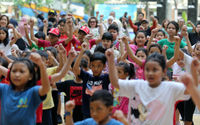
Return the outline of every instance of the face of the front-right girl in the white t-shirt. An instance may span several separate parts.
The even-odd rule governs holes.
[[[165,76],[162,67],[156,61],[148,61],[145,64],[144,73],[147,81],[149,82],[149,86],[151,87],[159,86],[162,81],[162,77]]]

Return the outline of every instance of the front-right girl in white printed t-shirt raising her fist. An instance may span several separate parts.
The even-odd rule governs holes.
[[[113,50],[106,52],[109,77],[114,87],[119,88],[120,96],[135,97],[138,110],[133,112],[133,121],[138,124],[172,125],[174,104],[184,100],[187,93],[183,84],[162,81],[166,73],[165,57],[158,53],[148,56],[145,63],[144,80],[118,80]],[[136,111],[136,110],[135,110]]]

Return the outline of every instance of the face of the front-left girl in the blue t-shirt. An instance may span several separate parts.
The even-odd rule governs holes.
[[[25,84],[32,79],[27,65],[24,63],[15,63],[10,70],[10,80],[17,88],[23,89]]]

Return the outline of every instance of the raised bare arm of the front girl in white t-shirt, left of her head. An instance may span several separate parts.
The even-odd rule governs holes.
[[[106,57],[107,57],[107,60],[108,60],[110,82],[115,88],[119,89],[117,69],[116,69],[115,60],[114,60],[115,59],[114,50],[108,49],[106,51]]]

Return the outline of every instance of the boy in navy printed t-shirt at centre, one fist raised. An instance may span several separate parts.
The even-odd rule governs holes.
[[[84,118],[90,117],[89,99],[96,90],[106,89],[110,83],[108,74],[102,74],[106,64],[106,57],[103,53],[96,52],[90,58],[90,68],[93,75],[79,68],[81,58],[86,50],[87,43],[82,44],[80,54],[74,64],[73,72],[83,80],[83,115]]]

